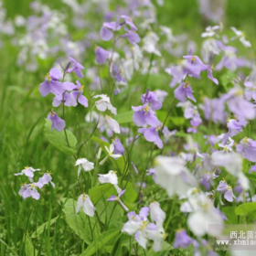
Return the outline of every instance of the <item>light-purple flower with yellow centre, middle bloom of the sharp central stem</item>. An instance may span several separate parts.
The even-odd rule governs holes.
[[[159,123],[155,113],[151,110],[148,104],[144,104],[143,106],[133,107],[133,122],[137,126],[144,126],[144,124],[149,125],[157,125]]]

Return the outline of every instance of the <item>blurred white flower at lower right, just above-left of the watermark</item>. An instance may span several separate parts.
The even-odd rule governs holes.
[[[223,229],[223,219],[219,210],[213,207],[213,203],[203,193],[197,195],[197,210],[189,215],[187,224],[197,236],[209,234],[218,237]],[[216,226],[209,227],[209,224]]]

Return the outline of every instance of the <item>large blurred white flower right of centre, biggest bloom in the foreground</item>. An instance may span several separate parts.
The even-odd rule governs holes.
[[[155,162],[156,183],[166,189],[169,197],[186,195],[190,187],[197,186],[197,179],[188,171],[182,158],[157,156]]]

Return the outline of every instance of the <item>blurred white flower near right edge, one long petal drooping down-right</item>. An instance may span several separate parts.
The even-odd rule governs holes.
[[[240,186],[248,190],[249,179],[242,172],[242,156],[239,153],[231,152],[225,153],[216,151],[211,155],[212,164],[215,166],[223,166],[230,175],[236,176],[240,179]]]

